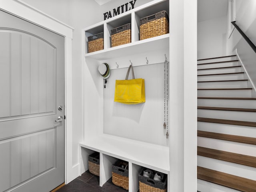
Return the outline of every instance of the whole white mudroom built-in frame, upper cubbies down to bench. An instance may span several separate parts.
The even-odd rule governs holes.
[[[83,52],[85,65],[88,65],[85,70],[91,70],[88,74],[92,75],[91,73],[96,73],[97,64],[102,62],[107,62],[110,69],[115,69],[116,62],[120,63],[121,60],[129,61],[131,57],[133,57],[133,66],[146,65],[146,62],[142,62],[142,58],[145,60],[145,57],[148,58],[150,64],[163,63],[165,56],[169,58],[169,34],[139,40],[140,18],[162,10],[166,10],[169,13],[169,0],[153,0],[123,14],[85,28],[83,30]],[[131,43],[111,47],[110,30],[126,23],[131,23]],[[104,33],[104,49],[88,53],[88,36],[100,32]],[[94,65],[95,68],[93,68]],[[119,68],[125,67],[128,67],[128,65],[119,66]],[[85,81],[86,78],[88,77],[85,77]],[[90,83],[94,83],[96,86],[100,84],[99,82],[100,80],[96,78],[90,80]],[[99,106],[97,108],[103,109],[103,90],[96,89],[96,93],[99,94]],[[88,114],[88,112],[85,112],[85,114]],[[80,170],[81,173],[88,170],[88,156],[94,151],[97,151],[100,152],[100,186],[111,178],[112,164],[116,161],[116,158],[129,162],[129,192],[138,191],[138,174],[143,167],[162,172],[169,176],[170,150],[168,142],[164,146],[104,134],[104,118],[102,116],[104,116],[103,112],[99,111],[99,122],[94,127],[85,126],[84,128],[85,140],[80,142],[80,160],[81,165],[83,165]],[[96,120],[94,114],[91,114],[91,117]]]

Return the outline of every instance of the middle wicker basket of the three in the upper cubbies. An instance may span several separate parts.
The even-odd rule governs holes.
[[[111,30],[112,47],[131,42],[131,24],[125,24]]]

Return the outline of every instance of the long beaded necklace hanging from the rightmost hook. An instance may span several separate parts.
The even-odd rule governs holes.
[[[166,129],[166,138],[168,139],[168,61],[165,57],[164,62],[164,129]]]

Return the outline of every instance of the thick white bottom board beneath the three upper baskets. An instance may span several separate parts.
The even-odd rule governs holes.
[[[128,54],[138,54],[138,50],[140,53],[151,52],[154,51],[152,48],[158,50],[169,49],[169,34],[107,48],[106,50],[104,49],[92,53],[87,53],[85,56],[97,60],[107,60],[114,57],[127,56]]]

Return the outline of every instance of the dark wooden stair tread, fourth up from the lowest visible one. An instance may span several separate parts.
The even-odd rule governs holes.
[[[199,121],[199,122],[210,122],[210,123],[220,123],[220,124],[256,127],[256,122],[248,122],[248,121],[213,119],[213,118],[203,118],[203,117],[198,117],[197,121]]]

